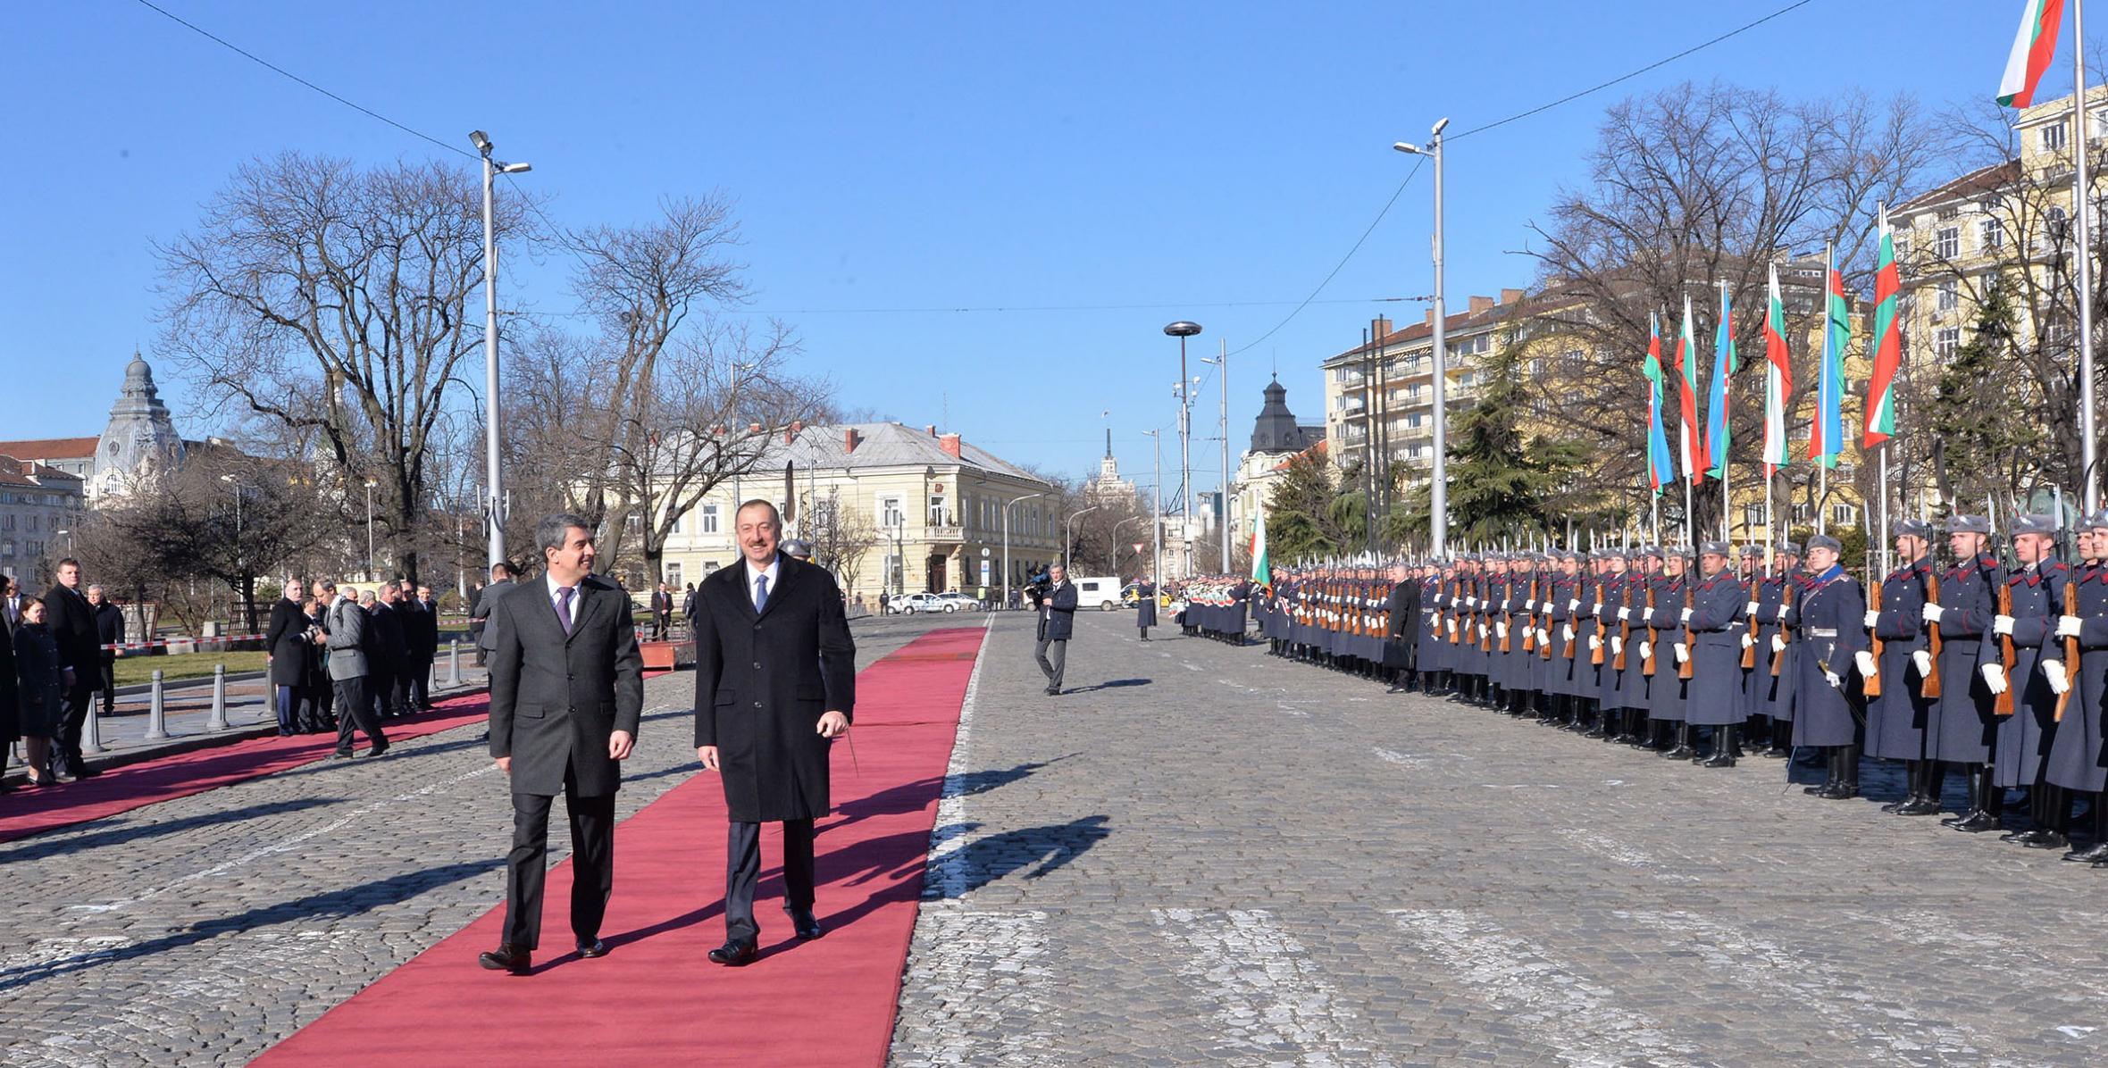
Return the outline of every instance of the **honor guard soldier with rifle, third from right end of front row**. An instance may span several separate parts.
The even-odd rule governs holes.
[[[1939,657],[1933,661],[1933,670],[1939,672],[1939,701],[1933,704],[1935,723],[1927,729],[1925,756],[1939,760],[1941,771],[1954,767],[1967,777],[1967,809],[1941,819],[1967,832],[1996,828],[2005,809],[2005,792],[1992,788],[1990,779],[1992,739],[1998,737],[1998,718],[1992,714],[1996,697],[1977,670],[1984,634],[1998,615],[1994,590],[2005,586],[1998,560],[1984,552],[1988,543],[1988,516],[1952,516],[1948,550],[1954,552],[1954,567],[1939,575],[1939,598],[1925,605],[1925,621],[1939,640]],[[1931,794],[1939,796],[1939,782],[1933,782]]]

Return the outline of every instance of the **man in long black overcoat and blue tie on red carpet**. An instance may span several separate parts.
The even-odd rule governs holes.
[[[761,824],[784,826],[784,912],[797,937],[820,937],[814,916],[812,822],[826,815],[826,756],[856,712],[856,642],[841,588],[826,569],[778,552],[782,518],[769,501],[734,516],[738,567],[702,579],[696,617],[696,756],[725,779],[725,944],[719,965],[759,952],[755,883]]]

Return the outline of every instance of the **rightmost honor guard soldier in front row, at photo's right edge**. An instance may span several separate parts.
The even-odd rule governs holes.
[[[2102,794],[2108,786],[2108,752],[2102,746],[2102,704],[2108,701],[2108,512],[2081,520],[2078,556],[2083,562],[2072,573],[2070,611],[2057,607],[2057,628],[2051,634],[2053,642],[2064,645],[2066,659],[2072,647],[2078,649],[2078,668],[2068,678],[2070,693],[2064,697],[2064,716],[2049,744],[2049,769],[2043,777],[2089,798],[2093,845],[2072,849],[2064,859],[2108,868],[2108,794]]]

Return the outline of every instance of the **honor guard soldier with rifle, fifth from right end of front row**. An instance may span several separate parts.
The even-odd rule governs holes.
[[[1794,746],[1828,752],[1830,773],[1807,792],[1826,800],[1859,796],[1859,723],[1847,683],[1868,649],[1866,594],[1838,565],[1842,546],[1830,535],[1809,539],[1809,581],[1794,605]]]

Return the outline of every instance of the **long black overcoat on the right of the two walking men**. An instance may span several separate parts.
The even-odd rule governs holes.
[[[826,569],[778,556],[757,615],[746,562],[713,571],[698,592],[696,746],[717,746],[725,813],[736,824],[828,813],[828,746],[820,716],[856,716],[856,642]]]

